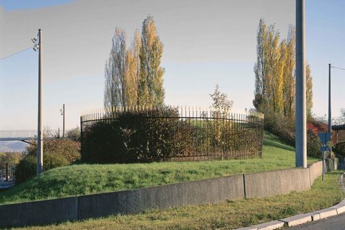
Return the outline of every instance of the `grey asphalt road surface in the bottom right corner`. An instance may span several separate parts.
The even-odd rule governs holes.
[[[308,222],[305,225],[288,228],[289,230],[345,230],[345,214],[327,219]]]

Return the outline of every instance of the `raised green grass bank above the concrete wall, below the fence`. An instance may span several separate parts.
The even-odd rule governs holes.
[[[264,133],[262,159],[151,164],[80,164],[55,168],[0,193],[0,204],[111,192],[168,183],[292,168],[294,148]],[[309,159],[309,163],[317,159]]]

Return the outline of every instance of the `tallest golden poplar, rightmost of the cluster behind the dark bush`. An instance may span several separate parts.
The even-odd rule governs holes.
[[[164,68],[160,66],[163,43],[157,36],[152,16],[142,23],[138,101],[140,105],[163,105]]]

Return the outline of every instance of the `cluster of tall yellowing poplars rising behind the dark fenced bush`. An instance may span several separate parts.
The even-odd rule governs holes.
[[[136,30],[129,49],[125,31],[116,27],[110,57],[105,62],[106,112],[114,113],[118,106],[164,104],[162,54],[163,43],[152,16],[142,23],[141,36]]]

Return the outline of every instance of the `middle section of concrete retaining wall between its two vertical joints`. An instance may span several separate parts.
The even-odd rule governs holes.
[[[243,175],[79,196],[80,219],[244,198]]]

